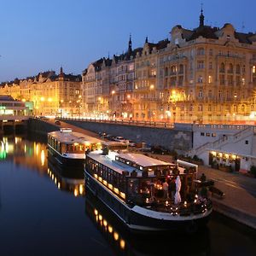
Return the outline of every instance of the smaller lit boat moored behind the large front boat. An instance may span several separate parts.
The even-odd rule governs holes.
[[[70,128],[48,133],[49,154],[65,166],[84,166],[86,150],[102,148],[102,142],[95,138],[74,132]]]

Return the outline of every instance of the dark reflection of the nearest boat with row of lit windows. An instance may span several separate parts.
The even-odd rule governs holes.
[[[85,212],[119,255],[210,255],[208,229],[193,236],[176,232],[157,235],[131,233],[87,190]]]

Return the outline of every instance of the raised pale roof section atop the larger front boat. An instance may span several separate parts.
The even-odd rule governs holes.
[[[173,166],[172,163],[154,159],[154,158],[148,157],[147,155],[144,155],[144,154],[128,153],[128,154],[119,154],[118,156],[122,159],[129,160],[131,162],[136,163],[138,166],[143,166],[143,167]]]

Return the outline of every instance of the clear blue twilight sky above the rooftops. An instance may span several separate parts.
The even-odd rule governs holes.
[[[205,23],[256,32],[255,0],[204,0]],[[91,61],[157,42],[177,24],[198,26],[201,0],[0,0],[0,82]]]

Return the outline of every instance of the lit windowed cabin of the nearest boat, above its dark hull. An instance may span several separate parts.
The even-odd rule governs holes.
[[[150,201],[174,201],[175,181],[181,180],[180,194],[186,201],[195,179],[195,171],[143,154],[99,151],[85,158],[85,169],[128,204],[146,206]]]

